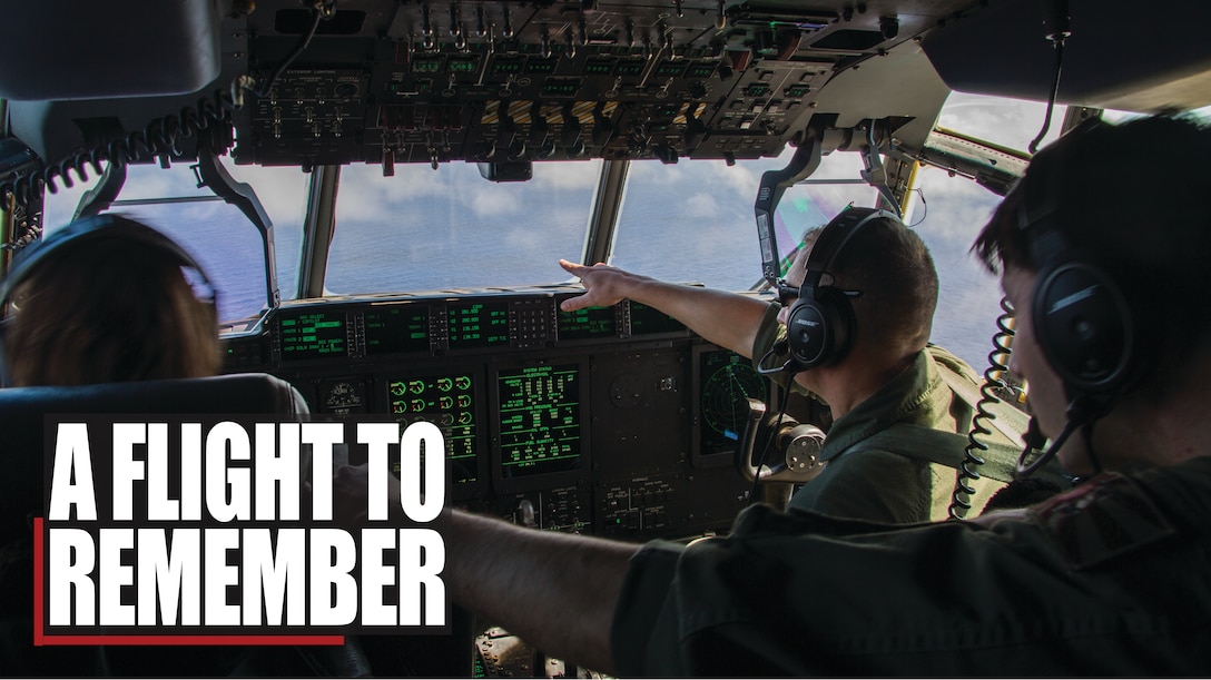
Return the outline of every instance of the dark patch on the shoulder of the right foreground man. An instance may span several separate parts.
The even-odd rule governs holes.
[[[1131,478],[1106,474],[1035,507],[1033,513],[1068,557],[1090,569],[1176,534]]]

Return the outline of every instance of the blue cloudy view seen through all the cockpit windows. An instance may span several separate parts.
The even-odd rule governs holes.
[[[1025,149],[1043,117],[1043,104],[954,94],[939,123]],[[1060,120],[1062,110],[1056,126]],[[761,173],[785,166],[790,152],[731,167],[722,161],[632,163],[612,264],[668,281],[748,289],[761,278],[752,211]],[[813,179],[856,180],[860,168],[856,154],[837,152]],[[309,177],[295,168],[229,169],[253,184],[274,220],[279,284],[289,298]],[[568,281],[557,261],[581,257],[598,173],[596,161],[535,163],[532,181],[494,184],[474,163],[443,163],[437,171],[397,166],[392,178],[378,166],[346,166],[326,288],[383,293]],[[46,224],[65,223],[85,186],[52,196]],[[930,247],[941,280],[934,340],[980,369],[992,347],[1000,292],[968,249],[999,198],[937,169],[920,172],[917,189],[908,223]],[[185,166],[167,172],[143,166],[131,168],[121,198],[207,194]],[[780,246],[793,247],[804,229],[826,223],[849,202],[873,201],[873,190],[861,181],[793,186],[781,203]],[[117,209],[185,242],[219,282],[224,318],[254,313],[264,304],[260,240],[234,208],[212,201]]]

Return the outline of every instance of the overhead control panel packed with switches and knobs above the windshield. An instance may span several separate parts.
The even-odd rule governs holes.
[[[390,173],[396,162],[776,155],[832,76],[963,4],[911,16],[794,5],[337,4],[292,59],[310,12],[259,2],[246,24],[260,91],[236,116],[235,159]]]

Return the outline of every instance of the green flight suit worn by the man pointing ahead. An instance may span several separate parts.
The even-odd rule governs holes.
[[[753,342],[754,363],[786,338],[786,327],[777,322],[779,310],[771,304],[762,319]],[[767,365],[785,361],[779,357]],[[820,451],[827,466],[791,496],[788,507],[890,524],[928,521],[934,485],[953,488],[953,473],[940,478],[923,459],[863,442],[894,425],[966,434],[972,409],[951,391],[941,370],[977,385],[971,367],[936,345],[928,346],[911,367],[832,423]],[[775,375],[775,380],[785,386],[786,374]]]

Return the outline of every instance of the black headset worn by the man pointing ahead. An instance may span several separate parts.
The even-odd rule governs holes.
[[[808,255],[803,283],[796,289],[779,280],[779,294],[797,295],[786,317],[786,341],[791,361],[786,368],[804,370],[839,362],[849,351],[854,339],[854,307],[849,299],[861,295],[861,290],[843,290],[833,284],[821,284],[828,267],[863,226],[890,219],[902,225],[900,218],[888,211],[876,208],[848,208],[834,217]]]

